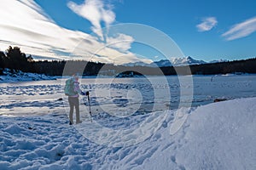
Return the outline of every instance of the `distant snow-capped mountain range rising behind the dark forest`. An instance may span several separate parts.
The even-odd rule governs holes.
[[[135,63],[126,63],[125,66],[149,66],[149,67],[164,67],[164,66],[183,66],[183,65],[202,65],[207,63],[219,63],[219,62],[227,62],[228,60],[220,59],[220,60],[212,60],[210,62],[206,62],[204,60],[193,59],[192,57],[183,57],[183,58],[171,58],[171,59],[161,59],[159,61],[154,61],[150,64],[144,63],[142,61]]]

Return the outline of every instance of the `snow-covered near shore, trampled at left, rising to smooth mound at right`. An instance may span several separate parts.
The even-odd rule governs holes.
[[[147,120],[163,122],[137,144],[101,145],[85,139],[79,127],[93,128],[87,116],[69,126],[67,115],[1,116],[1,169],[256,169],[256,98],[235,99],[188,111],[129,116],[95,116],[94,122],[113,129]],[[40,108],[38,108],[40,112]],[[153,117],[153,118],[150,118]],[[185,119],[184,119],[185,117]],[[179,122],[184,122],[179,129]],[[137,126],[139,129],[140,126]],[[178,130],[176,132],[176,130]],[[137,139],[141,133],[133,133]],[[93,135],[93,134],[92,134]],[[111,135],[102,132],[104,136]],[[112,138],[112,144],[119,143]],[[126,138],[129,140],[129,138]],[[126,142],[126,141],[125,141]]]

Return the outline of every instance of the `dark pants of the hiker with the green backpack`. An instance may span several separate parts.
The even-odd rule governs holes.
[[[80,122],[80,111],[79,111],[79,98],[68,97],[68,103],[70,106],[69,120],[73,124],[73,108],[76,109],[76,123]]]

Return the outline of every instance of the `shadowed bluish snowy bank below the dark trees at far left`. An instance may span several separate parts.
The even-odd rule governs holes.
[[[48,77],[44,74],[28,73],[22,71],[10,71],[5,69],[3,76],[0,76],[0,82],[25,82],[25,81],[38,81],[38,80],[55,80],[55,77]]]

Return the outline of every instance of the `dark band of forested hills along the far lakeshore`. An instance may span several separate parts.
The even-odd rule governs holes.
[[[65,65],[72,68],[70,71],[64,71]],[[119,73],[122,75],[213,75],[227,73],[256,73],[256,58],[242,59],[221,63],[202,64],[202,65],[187,65],[187,66],[166,66],[154,68],[149,66],[125,66],[103,64],[84,60],[38,60],[35,61],[32,55],[20,51],[18,47],[9,47],[6,52],[0,52],[0,74],[3,74],[3,69],[20,70],[25,72],[34,72],[49,76],[70,76],[74,72],[81,72],[83,69],[84,76],[96,76],[98,74],[105,76],[116,76]],[[67,67],[66,67],[67,68]]]

